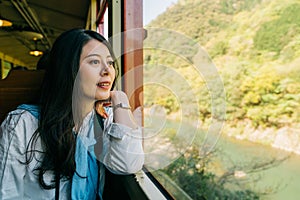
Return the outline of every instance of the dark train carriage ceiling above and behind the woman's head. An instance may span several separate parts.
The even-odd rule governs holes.
[[[0,27],[0,52],[27,66],[35,66],[39,57],[30,50],[47,51],[65,30],[86,28],[89,0],[0,0],[0,19],[12,26]]]

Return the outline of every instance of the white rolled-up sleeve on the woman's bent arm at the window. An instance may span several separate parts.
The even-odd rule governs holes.
[[[141,170],[144,164],[142,129],[111,123],[105,133],[109,142],[104,165],[115,174],[132,174]]]

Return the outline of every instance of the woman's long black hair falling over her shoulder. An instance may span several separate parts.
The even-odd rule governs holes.
[[[76,170],[76,138],[72,132],[74,127],[72,92],[80,67],[82,48],[91,39],[106,45],[115,60],[114,53],[105,38],[97,32],[84,29],[72,29],[62,33],[54,42],[47,57],[47,70],[39,101],[39,126],[27,146],[26,154],[28,164],[35,158],[34,154],[37,152],[35,145],[40,138],[42,158],[35,170],[38,172],[39,184],[45,189],[55,187],[55,176],[52,183],[45,182],[46,172],[59,174],[60,178],[71,179]]]

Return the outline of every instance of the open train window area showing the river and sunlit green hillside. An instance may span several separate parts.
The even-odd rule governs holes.
[[[297,198],[300,4],[143,4],[145,167],[153,183],[175,199]]]

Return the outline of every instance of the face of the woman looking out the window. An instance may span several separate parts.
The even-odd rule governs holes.
[[[83,95],[91,100],[105,100],[115,80],[116,71],[108,48],[92,39],[82,49],[79,80]]]

